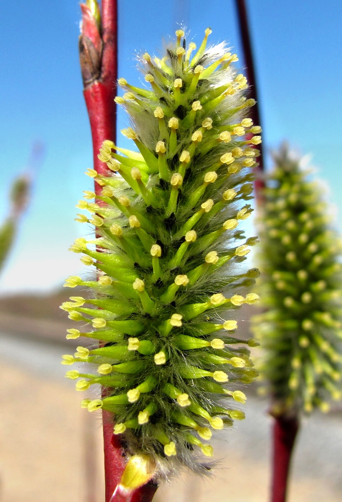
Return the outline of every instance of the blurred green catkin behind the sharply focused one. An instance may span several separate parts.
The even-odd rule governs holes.
[[[254,318],[274,415],[329,410],[341,394],[341,244],[318,182],[284,145],[260,214],[265,312]]]

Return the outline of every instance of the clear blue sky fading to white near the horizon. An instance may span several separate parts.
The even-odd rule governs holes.
[[[276,148],[286,139],[310,154],[341,215],[342,5],[317,0],[247,5],[264,147]],[[92,154],[78,63],[79,18],[74,0],[18,0],[0,7],[0,219],[11,180],[25,169],[33,142],[45,145],[31,204],[0,277],[0,294],[52,290],[68,275],[82,273],[78,257],[67,250],[87,231],[74,221],[74,206],[82,190],[91,189],[83,174]],[[173,37],[181,24],[197,43],[210,26],[210,42],[234,46],[243,68],[234,0],[119,0],[119,77],[139,83],[135,54],[157,54],[162,39]],[[125,125],[119,114],[119,130]],[[342,231],[340,221],[339,216]]]

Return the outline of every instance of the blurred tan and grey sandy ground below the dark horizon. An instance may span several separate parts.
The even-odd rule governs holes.
[[[0,343],[0,502],[103,502],[99,418],[80,409],[84,394],[63,379],[68,367],[56,362],[63,348],[51,349],[49,359],[42,346],[37,364],[30,345],[15,346]],[[271,422],[261,405],[249,397],[247,419],[213,442],[223,459],[215,477],[184,475],[154,500],[267,502]],[[288,502],[342,500],[341,460],[340,413],[303,423]]]

